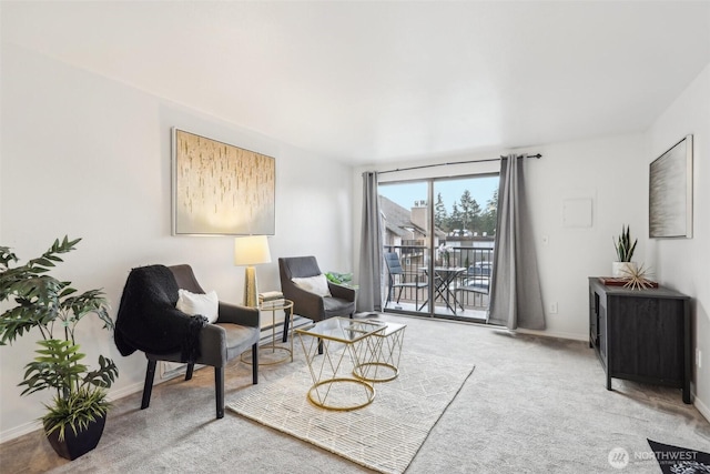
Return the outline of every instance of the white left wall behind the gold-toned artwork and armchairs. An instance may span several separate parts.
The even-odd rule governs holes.
[[[171,236],[171,127],[276,158],[273,262],[256,270],[276,290],[278,256],[315,254],[323,270],[349,271],[352,169],[23,49],[2,47],[0,242],[23,260],[55,238],[83,238],[58,275],[103,288],[115,315],[131,268],[190,263],[221,299],[243,300],[233,239]],[[274,111],[274,113],[277,113]],[[121,356],[101,324],[80,325],[89,363],[113,357],[112,397],[142,389],[145,359]],[[17,384],[38,334],[0,347],[0,442],[37,427],[42,395]]]

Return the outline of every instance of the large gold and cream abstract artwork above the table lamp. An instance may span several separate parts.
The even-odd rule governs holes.
[[[173,235],[274,235],[276,160],[172,129]]]

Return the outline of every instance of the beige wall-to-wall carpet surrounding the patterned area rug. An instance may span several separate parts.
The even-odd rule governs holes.
[[[648,438],[710,451],[710,423],[681,401],[679,390],[615,379],[613,391],[607,391],[601,364],[586,341],[422,317],[378,319],[407,325],[403,370],[412,353],[476,365],[406,474],[649,474],[660,468],[648,456]],[[295,349],[293,363],[260,367],[258,386],[252,385],[252,367],[233,361],[226,367],[226,401],[292,374],[304,360],[298,344]],[[131,357],[140,362],[142,377],[145,357]],[[372,407],[381,405],[384,387]],[[305,392],[291,396],[303,400]],[[2,443],[0,473],[373,472],[232,412],[215,420],[214,371],[209,367],[195,371],[190,382],[179,377],[158,384],[150,409],[140,405],[140,392],[116,400],[99,446],[72,462],[57,456],[39,431]],[[619,447],[630,457],[623,470],[609,463]]]

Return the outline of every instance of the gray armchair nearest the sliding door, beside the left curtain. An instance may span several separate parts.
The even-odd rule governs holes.
[[[293,282],[293,278],[316,276],[323,273],[315,256],[288,256],[278,259],[281,292],[293,301],[293,312],[315,322],[332,316],[349,316],[355,313],[355,289],[328,281],[332,296],[318,296]],[[285,322],[288,324],[288,321]],[[284,331],[284,342],[287,333]]]

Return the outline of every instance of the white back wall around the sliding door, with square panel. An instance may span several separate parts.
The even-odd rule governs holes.
[[[516,153],[541,153],[526,161],[527,191],[545,304],[546,334],[567,339],[589,339],[588,276],[609,275],[615,260],[612,236],[629,224],[639,239],[635,260],[643,261],[646,251],[647,177],[643,171],[643,135],[619,135],[597,140],[548,144]],[[457,157],[445,162],[485,160],[497,153]],[[422,163],[397,163],[379,170]],[[497,171],[500,164],[473,163],[387,173],[381,182],[414,179],[424,174],[464,175]],[[365,168],[367,169],[367,168]],[[376,169],[376,167],[372,167]],[[640,170],[640,171],[639,171]],[[355,173],[355,183],[362,180]],[[588,228],[567,228],[562,223],[565,200],[590,199],[592,223]],[[359,226],[361,195],[355,193],[355,229]],[[547,244],[544,243],[547,238]],[[356,245],[359,245],[357,235]],[[558,313],[550,314],[552,302]]]

